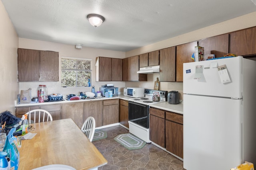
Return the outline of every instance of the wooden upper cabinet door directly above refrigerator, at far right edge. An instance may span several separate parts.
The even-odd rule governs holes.
[[[230,33],[229,53],[235,55],[256,54],[256,27]]]

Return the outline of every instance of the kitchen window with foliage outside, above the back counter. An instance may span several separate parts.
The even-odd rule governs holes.
[[[88,87],[92,76],[92,60],[61,58],[61,86]]]

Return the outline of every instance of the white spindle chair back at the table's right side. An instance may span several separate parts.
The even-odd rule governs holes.
[[[88,117],[84,124],[82,125],[81,131],[92,141],[94,131],[95,131],[95,119],[93,117]]]

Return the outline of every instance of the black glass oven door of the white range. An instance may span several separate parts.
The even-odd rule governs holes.
[[[149,106],[128,102],[128,119],[148,129],[149,127]]]

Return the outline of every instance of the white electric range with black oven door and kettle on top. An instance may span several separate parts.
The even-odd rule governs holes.
[[[160,101],[154,102],[152,97],[158,93]],[[128,100],[128,118],[129,132],[139,137],[147,143],[149,140],[149,106],[159,102],[167,101],[167,91],[162,90],[144,90],[145,97]]]

